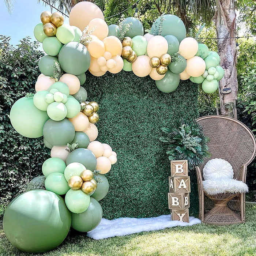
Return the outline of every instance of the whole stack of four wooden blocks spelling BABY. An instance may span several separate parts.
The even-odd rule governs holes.
[[[171,161],[168,204],[173,221],[189,222],[189,192],[188,161]]]

